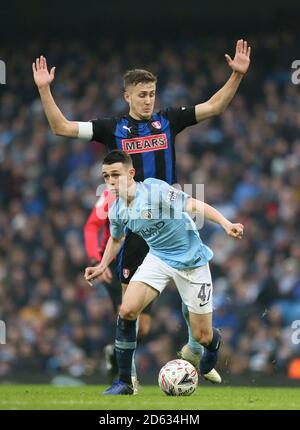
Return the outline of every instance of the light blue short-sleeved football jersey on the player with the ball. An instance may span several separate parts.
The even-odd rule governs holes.
[[[147,242],[150,254],[175,269],[204,266],[212,250],[204,245],[185,205],[188,194],[164,181],[148,178],[137,182],[129,207],[118,198],[109,210],[110,233],[118,239],[129,228]]]

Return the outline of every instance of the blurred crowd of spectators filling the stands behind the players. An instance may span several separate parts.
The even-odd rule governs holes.
[[[287,375],[300,357],[300,92],[291,82],[297,40],[249,40],[252,64],[230,107],[177,138],[178,182],[204,184],[205,200],[245,226],[234,241],[205,223],[214,251],[214,325],[223,333],[219,368],[228,374]],[[127,111],[122,75],[158,75],[157,110],[207,100],[230,75],[224,54],[235,41],[196,43],[101,40],[31,43],[4,50],[0,88],[0,378],[18,372],[105,374],[104,346],[115,315],[103,286],[83,279],[83,225],[96,202],[101,144],[54,136],[31,63],[56,66],[55,100],[68,119]],[[293,57],[294,54],[294,57]],[[139,345],[141,374],[157,372],[187,340],[180,299],[170,286],[155,302],[150,334]],[[297,324],[296,324],[297,325]],[[300,322],[299,322],[300,325]],[[100,375],[100,376],[99,376]],[[141,376],[143,381],[143,376]]]

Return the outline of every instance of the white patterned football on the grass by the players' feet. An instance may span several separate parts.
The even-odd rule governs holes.
[[[186,360],[172,360],[159,372],[158,384],[168,396],[190,396],[198,385],[198,373]]]

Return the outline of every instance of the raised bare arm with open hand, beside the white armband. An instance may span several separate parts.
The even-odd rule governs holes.
[[[38,87],[42,105],[53,133],[60,136],[78,137],[78,122],[68,121],[56,105],[50,84],[54,80],[55,67],[48,71],[46,58],[42,55],[32,63],[33,78]]]

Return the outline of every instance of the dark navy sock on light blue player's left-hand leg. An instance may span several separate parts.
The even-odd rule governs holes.
[[[136,349],[136,320],[125,320],[118,316],[115,350],[120,380],[131,385],[131,372]]]

